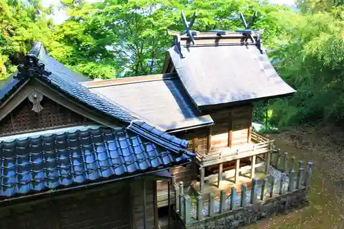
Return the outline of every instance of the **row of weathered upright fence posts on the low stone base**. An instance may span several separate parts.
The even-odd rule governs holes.
[[[286,161],[286,158],[284,160]],[[263,179],[252,179],[250,190],[247,184],[242,184],[239,192],[236,188],[232,187],[228,196],[226,196],[226,190],[220,190],[219,199],[215,198],[215,193],[198,193],[195,201],[192,201],[189,193],[184,193],[183,183],[175,184],[175,210],[186,225],[193,221],[200,221],[205,217],[214,217],[218,214],[237,210],[238,208],[246,208],[252,204],[262,204],[268,199],[273,199],[279,195],[286,195],[288,192],[310,186],[313,163],[308,162],[304,175],[303,172],[305,169],[303,168],[303,162],[299,161],[297,171],[292,166],[295,162],[294,157],[292,157],[291,162],[289,175],[283,172],[278,182],[276,177],[272,176],[264,177]],[[289,177],[288,184],[287,177]],[[276,188],[276,184],[278,184],[278,188]],[[238,198],[240,199],[239,205],[237,205]],[[227,200],[229,200],[229,205],[227,204]],[[206,209],[208,210],[208,214],[204,214],[206,212],[204,207],[206,206],[208,206],[208,209]],[[195,213],[191,214],[191,212]]]

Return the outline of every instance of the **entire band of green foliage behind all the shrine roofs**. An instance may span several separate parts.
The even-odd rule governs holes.
[[[270,101],[268,127],[344,119],[344,7],[342,1],[297,1],[302,13],[268,1],[249,0],[63,0],[69,19],[52,25],[52,8],[37,0],[0,1],[0,79],[15,71],[34,41],[42,41],[54,58],[89,78],[156,74],[164,64],[172,37],[182,32],[180,11],[192,17],[194,30],[242,28],[238,12],[257,11],[253,28],[279,74],[297,94]],[[255,111],[266,122],[266,105]],[[266,130],[268,131],[268,129]]]

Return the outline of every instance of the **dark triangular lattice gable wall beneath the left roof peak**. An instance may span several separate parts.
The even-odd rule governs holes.
[[[43,110],[36,113],[32,111],[32,102],[28,98],[23,100],[8,116],[0,120],[0,136],[92,122],[49,98],[43,97],[41,105]]]

